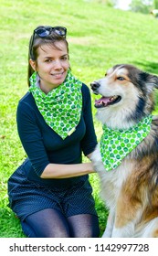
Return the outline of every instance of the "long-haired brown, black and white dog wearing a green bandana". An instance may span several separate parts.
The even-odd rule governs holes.
[[[158,116],[152,115],[158,77],[118,64],[90,87],[101,96],[95,107],[104,128],[91,155],[100,197],[109,209],[102,237],[158,237]],[[118,148],[111,153],[111,146]]]

